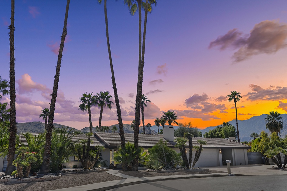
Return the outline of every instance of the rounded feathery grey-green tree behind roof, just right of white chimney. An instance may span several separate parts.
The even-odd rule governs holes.
[[[178,123],[178,128],[174,130],[174,136],[183,137],[184,133],[190,133],[195,137],[202,137],[202,133],[199,129],[192,126],[191,122]]]

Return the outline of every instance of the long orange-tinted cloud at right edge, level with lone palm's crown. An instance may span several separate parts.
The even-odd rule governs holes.
[[[275,87],[270,85],[268,88],[263,89],[258,85],[250,84],[249,87],[253,92],[248,92],[244,97],[247,100],[282,100],[287,99],[287,87]]]

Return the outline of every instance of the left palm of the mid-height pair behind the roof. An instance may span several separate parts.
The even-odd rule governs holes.
[[[82,102],[79,106],[79,109],[82,111],[87,111],[89,114],[89,122],[90,122],[90,132],[93,132],[93,126],[92,126],[92,117],[91,117],[91,107],[97,105],[97,96],[92,95],[92,93],[83,93],[82,97],[80,97],[80,102]]]

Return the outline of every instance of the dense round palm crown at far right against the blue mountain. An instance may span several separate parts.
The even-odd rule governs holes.
[[[281,130],[283,129],[283,119],[280,113],[278,112],[269,112],[265,119],[266,129],[272,132],[279,132],[281,134]]]

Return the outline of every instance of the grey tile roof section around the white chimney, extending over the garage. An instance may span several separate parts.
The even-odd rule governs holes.
[[[117,147],[121,144],[121,138],[119,133],[103,133],[97,132],[95,136],[100,138],[103,142],[107,144],[108,147]],[[175,137],[176,138],[176,137]],[[163,139],[163,135],[153,135],[153,134],[139,134],[138,135],[138,145],[144,148],[150,148],[154,146],[160,139]],[[207,142],[207,145],[203,145],[203,148],[239,148],[239,149],[250,149],[250,146],[244,145],[242,143],[238,143],[235,141],[231,141],[228,139],[217,139],[217,138],[204,138],[204,137],[193,137],[192,144],[193,146],[199,145],[197,140],[204,140]],[[125,133],[125,141],[126,142],[134,142],[134,134],[133,133]],[[169,141],[167,145],[169,147],[174,147],[176,142]],[[186,146],[188,147],[188,141],[186,142]]]

